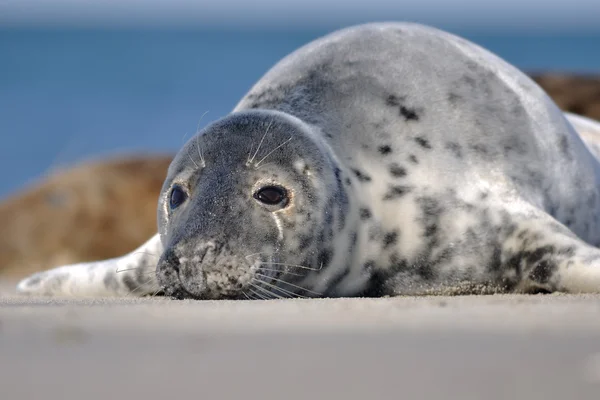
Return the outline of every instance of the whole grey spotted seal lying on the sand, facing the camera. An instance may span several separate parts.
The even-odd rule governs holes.
[[[18,289],[599,292],[598,137],[600,124],[565,116],[462,38],[412,23],[351,27],[284,58],[184,145],[147,244]]]

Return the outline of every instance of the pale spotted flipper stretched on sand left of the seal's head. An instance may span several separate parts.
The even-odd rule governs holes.
[[[65,265],[34,274],[17,285],[21,294],[70,297],[145,296],[160,289],[156,264],[162,253],[158,234],[122,257]]]

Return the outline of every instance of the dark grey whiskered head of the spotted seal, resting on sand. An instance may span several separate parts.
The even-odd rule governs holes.
[[[157,279],[178,298],[309,297],[332,261],[348,194],[314,127],[233,113],[177,154],[158,206]]]

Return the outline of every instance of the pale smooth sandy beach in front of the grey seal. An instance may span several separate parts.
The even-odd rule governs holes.
[[[3,399],[597,399],[600,296],[0,292]]]

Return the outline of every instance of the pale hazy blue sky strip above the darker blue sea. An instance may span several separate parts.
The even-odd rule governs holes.
[[[600,0],[0,0],[0,26],[341,26],[410,20],[446,28],[600,31]]]

